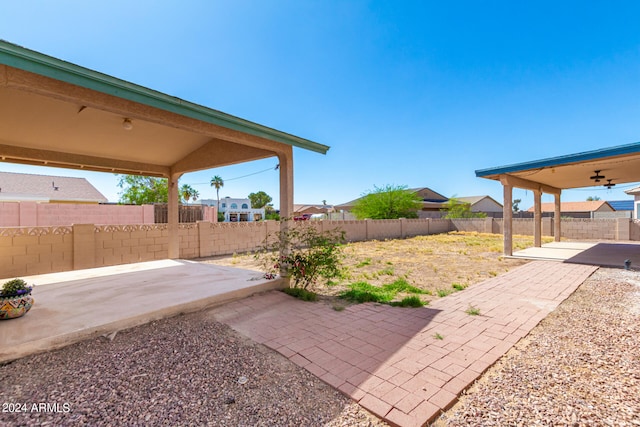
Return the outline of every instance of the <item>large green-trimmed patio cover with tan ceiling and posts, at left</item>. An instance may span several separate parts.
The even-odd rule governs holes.
[[[170,258],[182,174],[278,157],[288,217],[293,147],[329,149],[0,40],[0,161],[168,178]]]

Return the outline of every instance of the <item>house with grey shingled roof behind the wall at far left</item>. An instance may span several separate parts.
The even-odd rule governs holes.
[[[107,203],[85,178],[0,172],[0,202]]]

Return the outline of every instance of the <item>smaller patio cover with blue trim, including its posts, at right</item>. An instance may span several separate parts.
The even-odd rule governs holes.
[[[554,237],[560,241],[560,194],[563,189],[616,185],[640,181],[640,142],[601,150],[476,170],[480,178],[500,181],[504,189],[504,253],[512,255],[512,190],[534,194],[534,245],[542,234],[541,194],[555,195]]]

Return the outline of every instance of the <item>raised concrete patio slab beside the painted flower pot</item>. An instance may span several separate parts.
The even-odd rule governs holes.
[[[27,315],[0,322],[0,362],[282,287],[262,274],[183,260],[24,277]]]

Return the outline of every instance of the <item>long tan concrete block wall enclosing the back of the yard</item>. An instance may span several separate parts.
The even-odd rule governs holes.
[[[293,223],[293,226],[303,225]],[[502,233],[502,220],[398,219],[309,221],[319,231],[339,228],[350,242],[414,237],[449,231]],[[251,252],[280,229],[276,221],[180,224],[180,258],[194,259]],[[543,218],[543,235],[553,233],[553,219]],[[532,219],[514,219],[514,234],[533,235]],[[566,239],[640,240],[640,222],[628,218],[563,219]],[[166,224],[0,228],[0,278],[128,264],[168,256]]]

